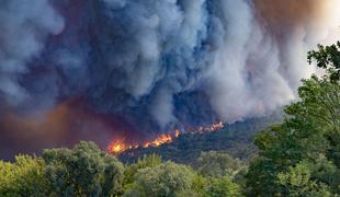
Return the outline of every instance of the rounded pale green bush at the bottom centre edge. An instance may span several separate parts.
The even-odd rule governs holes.
[[[185,165],[166,162],[155,167],[139,170],[134,184],[124,196],[174,197],[191,192],[194,173]]]

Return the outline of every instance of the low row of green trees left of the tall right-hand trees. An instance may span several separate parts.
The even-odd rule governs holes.
[[[123,165],[93,142],[0,162],[0,196],[240,196],[239,160],[202,153],[197,169],[145,155]]]

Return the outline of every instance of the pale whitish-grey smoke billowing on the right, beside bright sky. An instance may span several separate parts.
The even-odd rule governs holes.
[[[272,3],[273,7],[281,3],[292,9],[290,12],[294,12],[293,8],[308,4],[319,10],[317,13],[311,9],[306,10],[309,12],[307,16],[302,14],[296,19],[298,16],[280,13],[282,7],[276,4],[275,14],[282,14],[277,18],[292,20],[287,23],[291,26],[285,26],[280,19],[270,19],[274,24],[267,24],[271,22],[265,19],[259,21],[257,10],[247,1],[220,1],[224,18],[219,19],[223,19],[220,23],[226,33],[224,45],[214,61],[209,95],[213,107],[227,121],[263,115],[294,100],[301,79],[315,72],[315,68],[307,66],[307,51],[325,39],[329,30],[340,24],[340,1],[337,0],[259,0],[258,3]],[[301,21],[299,24],[294,24],[297,21]],[[268,27],[270,25],[274,30]],[[333,38],[339,39],[339,35],[336,36]]]

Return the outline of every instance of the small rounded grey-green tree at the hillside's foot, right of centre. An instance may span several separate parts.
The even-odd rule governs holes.
[[[202,152],[197,159],[199,172],[208,177],[234,175],[241,167],[241,162],[227,153],[209,151]]]

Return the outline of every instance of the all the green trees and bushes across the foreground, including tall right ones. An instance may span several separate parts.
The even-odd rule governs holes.
[[[340,43],[308,54],[325,76],[303,80],[299,100],[285,107],[282,124],[256,137],[259,151],[250,162],[209,151],[195,162],[184,160],[192,165],[156,154],[124,165],[82,141],[1,161],[0,196],[339,196],[339,50]]]

